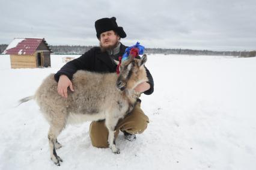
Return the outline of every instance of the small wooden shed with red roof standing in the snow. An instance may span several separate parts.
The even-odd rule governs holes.
[[[52,50],[44,38],[14,38],[5,54],[10,55],[11,68],[50,67]]]

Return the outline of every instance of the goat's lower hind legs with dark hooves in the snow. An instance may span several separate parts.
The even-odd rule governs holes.
[[[58,166],[60,165],[59,162],[62,162],[62,159],[56,153],[56,146],[59,144],[57,143],[57,136],[61,133],[62,129],[62,126],[51,125],[48,133],[50,159]]]

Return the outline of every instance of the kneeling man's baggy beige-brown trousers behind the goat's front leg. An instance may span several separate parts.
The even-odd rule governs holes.
[[[115,138],[120,130],[130,134],[142,133],[147,129],[148,117],[141,110],[141,103],[137,102],[132,112],[118,121],[116,126]],[[97,148],[108,148],[108,129],[105,121],[93,121],[90,125],[91,144]]]

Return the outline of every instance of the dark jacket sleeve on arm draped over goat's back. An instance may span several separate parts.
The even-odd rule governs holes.
[[[59,76],[64,74],[67,77],[69,77],[70,80],[72,80],[73,74],[75,74],[76,71],[91,70],[92,65],[94,65],[93,56],[94,56],[94,50],[90,49],[79,58],[76,58],[70,62],[67,62],[67,64],[61,67],[61,69],[54,75],[54,79],[56,80],[56,82],[58,82]]]

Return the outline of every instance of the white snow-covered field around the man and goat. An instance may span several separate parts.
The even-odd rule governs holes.
[[[256,169],[256,58],[189,55],[148,56],[155,87],[141,99],[150,124],[136,141],[121,134],[112,154],[91,145],[90,123],[68,126],[58,138],[64,162],[54,165],[36,103],[13,106],[62,57],[51,56],[52,68],[11,69],[0,55],[0,169]]]

